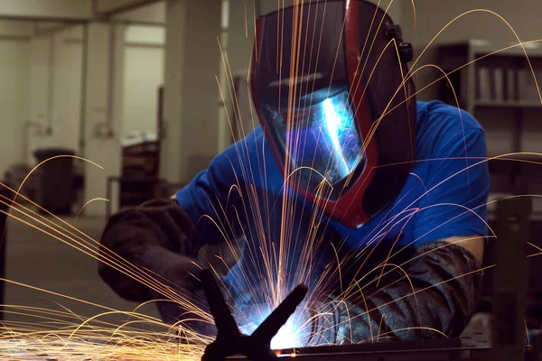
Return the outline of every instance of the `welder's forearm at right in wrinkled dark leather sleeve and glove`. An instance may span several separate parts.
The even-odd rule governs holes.
[[[388,265],[385,273],[393,271],[356,298],[323,301],[311,345],[459,336],[481,296],[482,254],[481,237],[419,246],[402,270]]]

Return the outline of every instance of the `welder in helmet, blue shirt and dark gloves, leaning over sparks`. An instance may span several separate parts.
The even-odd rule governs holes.
[[[260,125],[172,199],[110,218],[102,245],[189,296],[220,259],[241,325],[277,288],[306,283],[301,346],[460,335],[481,297],[485,134],[458,106],[416,101],[411,60],[367,1],[258,18]],[[105,264],[99,273],[126,299],[164,298]],[[184,312],[159,310],[169,323]]]

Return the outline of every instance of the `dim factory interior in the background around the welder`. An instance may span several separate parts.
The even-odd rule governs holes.
[[[459,104],[484,128],[489,157],[513,159],[489,162],[488,222],[502,223],[498,199],[530,195],[530,257],[516,259],[521,266],[509,265],[509,273],[527,280],[524,329],[541,330],[542,2],[370,1],[388,9],[413,46],[417,100]],[[294,2],[0,1],[0,181],[36,212],[31,219],[5,202],[1,208],[9,214],[0,217],[2,305],[81,318],[104,312],[100,306],[140,306],[117,295],[100,278],[98,261],[55,236],[41,217],[99,241],[111,215],[169,198],[250,134],[257,124],[248,86],[255,19]],[[499,257],[486,247],[483,266]],[[470,325],[479,334],[491,329],[489,268]],[[138,311],[160,318],[152,303]],[[0,319],[37,322],[10,307]]]

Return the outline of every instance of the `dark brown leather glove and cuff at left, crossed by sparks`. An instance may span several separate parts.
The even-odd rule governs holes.
[[[197,260],[201,240],[192,219],[172,199],[153,199],[117,213],[108,220],[100,243],[100,261],[105,263],[99,263],[98,273],[127,300],[170,298],[172,290],[189,297],[198,287],[195,277],[204,266]],[[125,265],[142,278],[135,280],[106,263]],[[172,320],[169,315],[163,318]]]

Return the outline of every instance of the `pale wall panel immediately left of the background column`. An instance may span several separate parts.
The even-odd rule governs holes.
[[[42,147],[79,153],[82,28],[73,26],[33,38],[27,162]],[[52,54],[51,54],[52,52]]]

